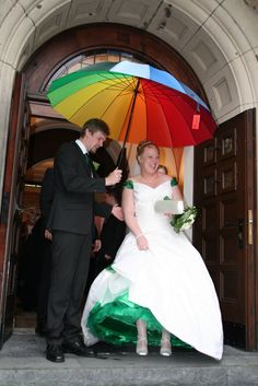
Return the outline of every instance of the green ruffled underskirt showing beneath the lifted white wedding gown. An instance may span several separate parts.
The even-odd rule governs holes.
[[[95,304],[87,319],[87,327],[99,340],[112,344],[137,343],[136,321],[144,319],[148,326],[148,343],[160,346],[162,326],[149,308],[144,308],[128,300],[128,291],[112,303]],[[172,336],[172,346],[190,348],[189,344]]]

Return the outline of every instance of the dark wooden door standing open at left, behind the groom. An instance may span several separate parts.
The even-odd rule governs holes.
[[[24,98],[23,77],[16,77],[10,131],[7,151],[7,164],[3,184],[4,204],[0,225],[0,270],[3,278],[0,307],[1,330],[0,347],[13,330],[17,256],[21,232],[21,203],[26,172],[26,159],[30,138],[30,112]]]

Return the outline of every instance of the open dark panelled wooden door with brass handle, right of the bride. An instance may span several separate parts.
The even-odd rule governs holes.
[[[254,350],[255,109],[222,124],[195,152],[194,243],[215,284],[225,343]]]

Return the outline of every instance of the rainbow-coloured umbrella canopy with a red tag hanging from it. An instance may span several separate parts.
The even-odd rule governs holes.
[[[103,62],[59,78],[48,98],[82,127],[101,118],[118,141],[150,139],[160,147],[195,145],[212,138],[216,125],[206,103],[166,71],[129,61]]]

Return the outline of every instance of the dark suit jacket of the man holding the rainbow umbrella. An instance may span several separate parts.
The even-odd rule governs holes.
[[[92,234],[94,211],[107,217],[110,207],[95,206],[94,194],[105,191],[105,178],[92,177],[85,155],[75,142],[63,143],[55,157],[55,196],[47,227]]]

